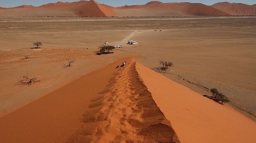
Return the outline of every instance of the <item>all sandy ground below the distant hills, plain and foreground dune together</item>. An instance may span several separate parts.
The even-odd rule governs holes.
[[[124,47],[96,55],[106,41]],[[173,67],[151,70],[160,60]],[[255,65],[255,17],[2,17],[0,141],[252,143]]]

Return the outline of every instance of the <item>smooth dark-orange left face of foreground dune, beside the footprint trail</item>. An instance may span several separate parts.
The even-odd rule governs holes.
[[[90,98],[106,86],[114,71],[108,67],[114,66],[80,77],[0,118],[0,142],[65,142],[82,125]]]

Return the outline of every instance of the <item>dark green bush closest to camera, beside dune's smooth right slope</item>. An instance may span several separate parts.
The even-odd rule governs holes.
[[[207,95],[203,95],[209,99],[212,99],[213,101],[220,103],[220,104],[224,104],[227,102],[230,102],[230,100],[227,98],[227,96],[225,96],[224,94],[222,94],[221,92],[219,92],[216,88],[212,88],[210,89],[212,96],[207,96]]]

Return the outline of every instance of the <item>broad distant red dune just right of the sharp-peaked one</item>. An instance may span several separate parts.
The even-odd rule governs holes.
[[[119,16],[228,16],[221,10],[201,3],[149,2],[146,5],[131,5],[114,9]]]

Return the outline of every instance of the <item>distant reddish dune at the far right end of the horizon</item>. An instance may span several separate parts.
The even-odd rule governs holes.
[[[256,7],[242,3],[219,2],[212,7],[231,15],[256,15]]]

